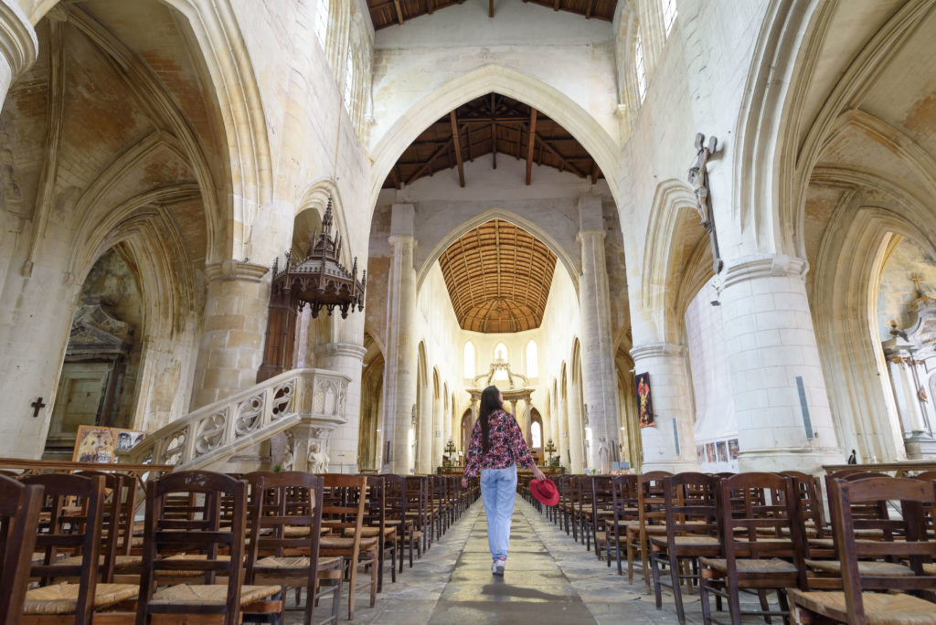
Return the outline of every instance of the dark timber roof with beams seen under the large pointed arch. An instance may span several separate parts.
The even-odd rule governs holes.
[[[592,184],[602,178],[592,155],[563,126],[519,100],[487,94],[426,128],[390,169],[384,188],[399,189],[453,167],[465,186],[470,181],[465,180],[464,164],[486,154],[495,169],[515,168],[518,183],[533,182],[534,165],[569,171]]]

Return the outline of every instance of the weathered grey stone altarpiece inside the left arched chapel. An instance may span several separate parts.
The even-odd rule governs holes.
[[[80,425],[125,427],[118,413],[133,332],[100,297],[81,299],[72,320],[43,458],[70,460]]]

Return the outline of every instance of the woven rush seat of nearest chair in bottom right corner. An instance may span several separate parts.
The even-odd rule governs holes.
[[[841,622],[848,620],[845,593],[792,590],[798,605]],[[862,592],[868,625],[934,625],[936,604],[902,593]]]

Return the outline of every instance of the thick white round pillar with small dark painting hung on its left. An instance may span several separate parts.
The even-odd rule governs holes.
[[[631,350],[636,374],[650,373],[656,425],[640,429],[642,472],[698,471],[689,387],[688,350],[684,345],[651,342]]]

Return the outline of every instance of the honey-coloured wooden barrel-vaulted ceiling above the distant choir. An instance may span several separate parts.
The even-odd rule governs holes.
[[[520,332],[543,322],[556,255],[500,219],[477,226],[439,258],[463,329]]]

